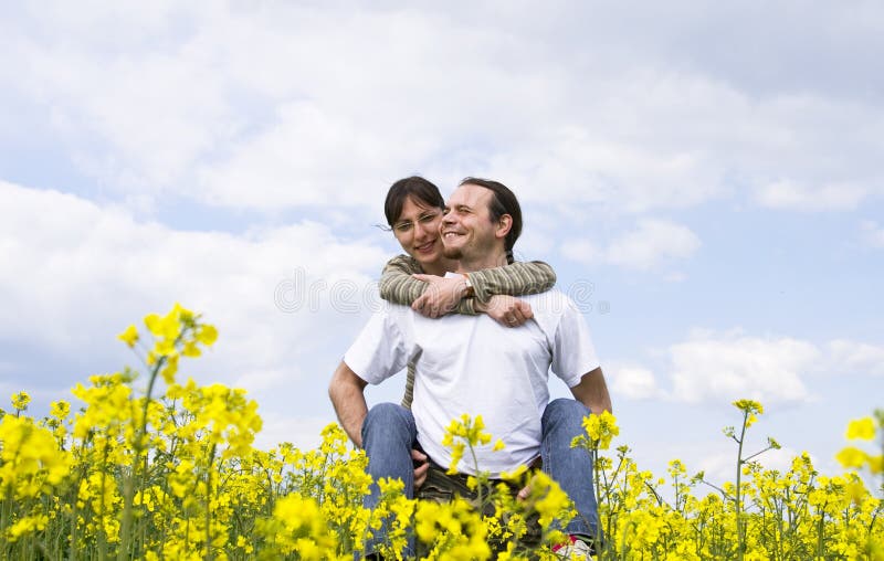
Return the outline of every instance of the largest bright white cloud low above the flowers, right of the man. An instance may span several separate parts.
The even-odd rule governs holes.
[[[819,368],[813,345],[788,337],[751,337],[740,331],[695,332],[670,349],[672,398],[676,401],[762,403],[803,402],[811,398],[802,378]]]

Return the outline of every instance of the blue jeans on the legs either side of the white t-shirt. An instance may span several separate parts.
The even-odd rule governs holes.
[[[543,469],[555,479],[577,509],[575,517],[562,531],[586,537],[596,536],[598,507],[592,489],[592,461],[586,451],[571,448],[571,440],[583,433],[582,421],[590,414],[576,400],[552,400],[544,410],[541,423],[540,458]],[[393,403],[379,403],[371,407],[362,423],[362,446],[368,456],[368,473],[377,481],[381,477],[402,479],[406,496],[414,497],[414,465],[411,449],[418,446],[418,427],[411,411]],[[366,497],[366,508],[375,508],[380,491],[371,484]],[[383,528],[366,544],[366,554],[375,552],[386,540]],[[413,547],[410,546],[413,551]]]

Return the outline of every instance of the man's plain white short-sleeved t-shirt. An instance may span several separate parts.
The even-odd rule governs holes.
[[[555,289],[520,298],[530,304],[534,319],[516,328],[484,314],[429,319],[410,307],[388,304],[371,317],[344,362],[366,382],[378,384],[414,359],[411,411],[424,452],[448,467],[445,427],[463,413],[482,415],[492,443],[475,448],[478,469],[497,477],[540,454],[550,367],[568,388],[599,367],[589,327],[570,298]],[[494,452],[497,438],[505,448]],[[457,469],[475,474],[469,452]]]

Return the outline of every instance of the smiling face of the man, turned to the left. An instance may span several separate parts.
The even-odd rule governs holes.
[[[491,221],[488,210],[493,197],[490,189],[470,183],[452,193],[442,218],[445,257],[480,258],[494,250],[497,224]]]

